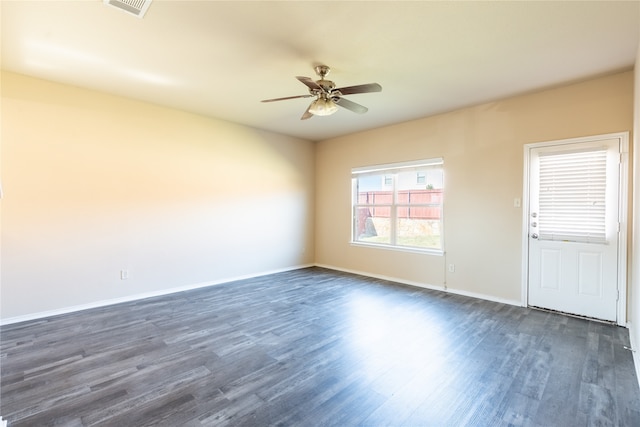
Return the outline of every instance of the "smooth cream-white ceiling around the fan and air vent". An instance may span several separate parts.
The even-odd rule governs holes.
[[[630,69],[638,1],[2,1],[2,68],[308,140]],[[369,107],[301,121],[332,68]]]

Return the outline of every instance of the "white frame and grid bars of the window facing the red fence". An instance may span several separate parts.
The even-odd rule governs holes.
[[[442,191],[442,198],[440,200],[439,209],[440,209],[440,218],[439,218],[439,230],[440,230],[440,248],[425,248],[419,246],[407,246],[407,245],[399,245],[397,244],[397,235],[398,235],[398,210],[401,208],[427,208],[433,207],[432,203],[426,204],[410,204],[410,203],[399,203],[398,202],[398,193],[403,190],[398,189],[398,179],[397,176],[402,172],[410,172],[412,170],[422,171],[425,169],[440,169],[441,170],[441,178],[442,178],[442,186],[440,190]],[[358,203],[358,178],[364,176],[382,176],[386,178],[387,175],[393,176],[392,181],[392,189],[390,190],[393,194],[392,201],[390,204],[361,204]],[[422,185],[422,184],[420,184]],[[425,182],[425,185],[427,183]],[[351,170],[351,237],[350,243],[353,246],[364,246],[371,248],[379,248],[379,249],[387,249],[394,251],[404,251],[404,252],[417,252],[421,254],[430,254],[430,255],[444,255],[444,159],[442,157],[431,158],[431,159],[422,159],[415,160],[409,162],[399,162],[399,163],[389,163],[389,164],[380,164],[373,166],[364,166],[357,167]],[[356,230],[358,228],[358,210],[362,207],[388,207],[390,209],[389,213],[389,221],[390,221],[390,230],[389,230],[389,240],[391,243],[378,243],[378,242],[366,242],[357,239]]]

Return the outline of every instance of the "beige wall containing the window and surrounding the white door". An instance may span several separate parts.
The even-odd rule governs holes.
[[[633,72],[624,72],[322,141],[316,263],[519,303],[523,145],[631,131],[632,111]],[[445,162],[446,255],[350,245],[351,168],[432,157]]]

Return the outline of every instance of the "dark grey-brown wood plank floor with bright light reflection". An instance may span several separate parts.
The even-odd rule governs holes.
[[[320,268],[0,329],[9,426],[640,426],[628,331]]]

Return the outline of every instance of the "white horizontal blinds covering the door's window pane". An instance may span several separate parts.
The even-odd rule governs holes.
[[[606,243],[607,149],[541,153],[539,238]]]

